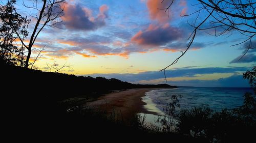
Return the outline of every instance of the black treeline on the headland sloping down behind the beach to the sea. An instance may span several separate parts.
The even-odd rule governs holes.
[[[133,88],[176,88],[168,84],[132,84],[121,80],[104,77],[75,76],[63,73],[42,72],[40,70],[25,69],[1,65],[2,79],[5,88],[22,90],[25,95],[50,96],[55,99],[65,99],[77,96],[92,96],[114,90]]]

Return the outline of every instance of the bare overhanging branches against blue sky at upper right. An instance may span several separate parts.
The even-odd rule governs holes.
[[[165,10],[165,12],[169,12],[169,9],[172,8],[172,5],[175,0],[163,0],[169,1],[169,5],[166,8],[161,8],[160,10]],[[162,3],[163,3],[162,1]],[[193,43],[198,30],[214,30],[214,36],[222,36],[226,35],[229,37],[233,34],[233,32],[239,32],[241,35],[246,38],[237,44],[239,45],[249,41],[247,50],[244,55],[248,52],[249,49],[252,49],[251,43],[252,39],[256,35],[256,2],[252,0],[241,1],[241,0],[198,0],[198,4],[194,5],[199,9],[194,13],[184,15],[189,16],[192,14],[197,14],[193,23],[188,23],[190,26],[194,27],[193,33],[189,36],[189,43],[186,47],[186,50],[182,52],[182,54],[175,60],[173,63],[169,64],[161,71],[165,72],[165,69],[176,64],[179,59],[186,53],[186,51],[190,48]],[[204,20],[198,22],[198,17],[200,13],[207,14]],[[205,24],[207,26],[205,27]],[[204,24],[205,23],[205,24]],[[204,24],[204,25],[203,25]],[[234,46],[232,45],[232,46]],[[244,56],[243,55],[243,56]],[[242,56],[242,57],[243,57]],[[241,57],[241,58],[242,58]]]

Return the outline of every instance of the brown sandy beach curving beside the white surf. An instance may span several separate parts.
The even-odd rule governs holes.
[[[135,113],[149,113],[157,115],[156,112],[148,111],[144,108],[141,97],[145,96],[147,91],[160,88],[147,89],[129,89],[120,92],[113,92],[98,98],[98,100],[89,102],[86,105],[93,108],[106,110],[107,113],[115,113],[117,118],[129,119]]]

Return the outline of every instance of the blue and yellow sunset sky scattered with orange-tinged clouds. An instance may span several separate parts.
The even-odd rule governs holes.
[[[159,70],[168,66],[184,51],[197,15],[196,1],[175,1],[168,12],[169,1],[162,0],[69,0],[59,28],[45,27],[34,47],[42,57],[34,67],[49,71],[49,65],[69,65],[62,73],[118,78],[132,83],[165,83]],[[31,1],[25,1],[32,6]],[[40,3],[38,4],[40,6]],[[36,11],[17,1],[17,10],[31,18]],[[198,21],[207,16],[200,14]],[[207,21],[205,22],[207,26]],[[215,37],[212,31],[200,31],[190,49],[179,62],[166,69],[167,83],[194,87],[248,87],[242,74],[255,66],[256,51],[251,49],[241,59],[246,44],[239,33]],[[252,45],[256,45],[252,39]],[[36,50],[33,56],[37,55]],[[33,60],[33,58],[31,59]],[[47,66],[48,65],[48,66]]]

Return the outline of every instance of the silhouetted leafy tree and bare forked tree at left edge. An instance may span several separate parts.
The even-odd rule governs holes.
[[[28,3],[33,3],[33,6],[29,6]],[[15,8],[16,0],[8,0],[7,4],[0,7],[0,39],[1,39],[1,51],[0,60],[3,63],[11,64],[14,66],[24,66],[28,68],[31,65],[33,67],[36,60],[40,58],[40,53],[45,47],[41,47],[42,50],[33,48],[34,43],[39,33],[46,27],[56,27],[58,23],[61,23],[60,17],[63,16],[62,4],[65,0],[43,0],[43,1],[31,1],[23,2],[23,6],[27,10],[36,11],[35,14],[29,13],[29,16],[33,18],[35,24],[33,25],[32,34],[28,39],[28,43],[24,42],[28,36],[28,24],[30,20],[27,17],[20,15]],[[41,8],[39,8],[41,6]],[[31,25],[30,25],[31,26]],[[18,47],[18,44],[21,46]],[[29,63],[32,50],[38,50],[38,55],[32,63]],[[26,54],[25,54],[26,52]]]

